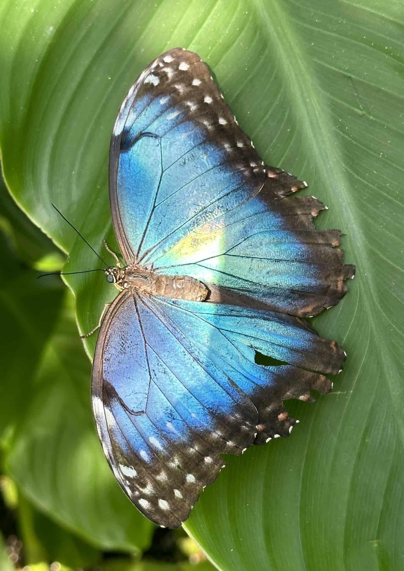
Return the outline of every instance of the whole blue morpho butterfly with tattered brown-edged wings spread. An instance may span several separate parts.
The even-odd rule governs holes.
[[[125,268],[100,328],[92,407],[108,463],[151,521],[175,528],[221,453],[288,436],[285,399],[328,393],[345,352],[304,317],[354,267],[325,206],[266,166],[208,67],[169,50],[129,90],[112,134],[110,203]],[[286,364],[264,367],[255,351]],[[316,371],[316,372],[314,372]]]

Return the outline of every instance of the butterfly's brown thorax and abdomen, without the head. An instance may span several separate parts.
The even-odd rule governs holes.
[[[146,271],[144,274],[127,271],[124,281],[127,287],[133,287],[136,291],[149,295],[191,301],[203,301],[208,295],[208,288],[190,276],[169,276],[155,274],[153,271]]]

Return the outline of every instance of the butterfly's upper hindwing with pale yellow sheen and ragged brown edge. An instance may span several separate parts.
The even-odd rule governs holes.
[[[325,207],[313,196],[277,196],[272,179],[247,203],[185,236],[158,259],[162,274],[207,284],[209,301],[317,315],[346,293],[339,230],[316,231]]]

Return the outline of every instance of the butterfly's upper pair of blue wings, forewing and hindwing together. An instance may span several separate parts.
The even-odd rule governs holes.
[[[144,70],[110,154],[112,219],[127,263],[211,284],[211,301],[312,316],[336,305],[353,266],[305,182],[264,165],[200,58],[182,49]]]

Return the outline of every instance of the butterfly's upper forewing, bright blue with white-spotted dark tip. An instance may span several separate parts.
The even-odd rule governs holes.
[[[161,55],[131,87],[111,140],[112,220],[126,263],[146,264],[265,178],[208,67],[180,48]]]

